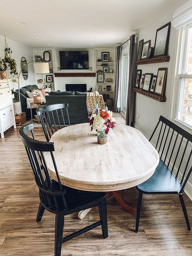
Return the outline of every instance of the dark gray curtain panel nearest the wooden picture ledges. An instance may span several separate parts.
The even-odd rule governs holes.
[[[134,118],[134,99],[135,92],[133,87],[136,79],[135,62],[135,35],[130,37],[130,53],[129,53],[129,81],[128,81],[128,96],[127,96],[127,108],[126,108],[126,125],[133,126]]]

